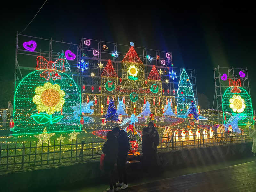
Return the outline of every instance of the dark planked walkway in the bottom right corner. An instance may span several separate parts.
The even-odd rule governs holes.
[[[122,192],[255,192],[256,161],[132,186]]]

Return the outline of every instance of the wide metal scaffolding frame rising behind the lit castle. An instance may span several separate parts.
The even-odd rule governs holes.
[[[37,42],[36,51],[30,52],[23,48],[22,43],[30,40]],[[90,46],[87,46],[84,41],[90,40]],[[105,46],[105,49],[103,45]],[[106,47],[108,47],[106,49]],[[174,70],[177,73],[177,78],[180,76],[183,68],[172,67],[172,53],[164,52],[160,50],[148,49],[143,47],[133,46],[141,61],[144,64],[144,76],[148,78],[149,73],[152,69],[152,65],[156,66],[157,71],[163,70],[161,76],[162,88],[170,90],[170,95],[173,96],[173,89],[175,90],[175,97],[177,99],[177,90],[179,81],[177,79],[172,80],[169,76],[169,72]],[[67,43],[63,41],[55,41],[51,39],[45,39],[42,37],[34,37],[28,35],[22,35],[17,32],[16,35],[16,49],[15,49],[15,69],[14,69],[14,95],[15,90],[19,82],[24,76],[28,75],[30,71],[36,70],[36,57],[43,56],[48,61],[55,61],[59,58],[60,54],[65,50],[71,50],[76,54],[75,60],[68,60],[71,72],[65,71],[65,73],[72,74],[78,87],[82,87],[83,84],[86,86],[85,92],[91,92],[91,85],[94,85],[95,93],[98,91],[100,86],[100,76],[104,69],[98,68],[98,63],[106,63],[109,59],[111,60],[113,67],[117,72],[118,77],[122,77],[122,60],[128,52],[130,46],[124,44],[111,43],[101,40],[81,38],[80,44]],[[39,50],[39,51],[38,51]],[[64,50],[64,51],[63,51]],[[93,55],[93,50],[99,52],[98,56]],[[118,53],[118,57],[111,56],[112,53]],[[166,58],[166,53],[170,54],[170,59]],[[153,58],[150,62],[147,59],[147,55]],[[159,58],[157,59],[157,56]],[[77,62],[85,60],[88,63],[88,70],[82,72],[77,68]],[[161,60],[165,60],[165,65],[161,64]],[[195,100],[197,102],[197,88],[196,88],[196,73],[194,69],[185,69],[192,84],[192,88],[195,94]],[[95,73],[95,77],[90,76],[90,73]],[[165,80],[169,79],[169,83],[165,83]],[[88,89],[89,87],[89,89]]]

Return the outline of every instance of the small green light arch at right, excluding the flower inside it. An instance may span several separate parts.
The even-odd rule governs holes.
[[[230,116],[232,116],[232,113],[234,113],[233,110],[229,107],[229,104],[230,104],[229,99],[231,99],[233,95],[240,95],[241,98],[244,99],[244,103],[246,105],[244,108],[244,111],[242,113],[246,114],[247,117],[244,120],[239,120],[238,125],[245,125],[248,121],[250,123],[253,123],[252,99],[251,99],[250,95],[242,87],[238,87],[241,90],[240,93],[231,92],[231,90],[234,87],[238,87],[238,86],[228,87],[222,97],[222,112],[223,112],[224,123],[226,123],[228,121],[228,119],[230,118]],[[227,117],[226,121],[224,119],[225,115]]]

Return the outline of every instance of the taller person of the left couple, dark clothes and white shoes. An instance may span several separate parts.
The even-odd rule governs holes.
[[[130,150],[130,143],[127,136],[127,132],[120,130],[119,127],[115,127],[112,130],[118,141],[118,154],[117,154],[117,169],[119,181],[116,183],[120,189],[126,189],[128,187],[127,176],[125,170],[125,163],[128,151]]]

